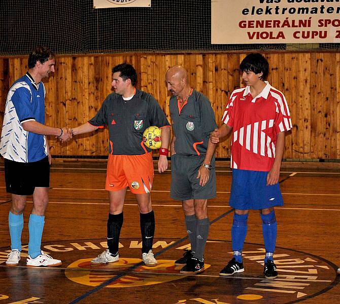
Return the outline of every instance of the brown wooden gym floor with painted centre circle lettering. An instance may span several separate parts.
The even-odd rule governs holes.
[[[340,170],[282,169],[285,205],[276,208],[278,239],[275,261],[279,277],[263,277],[261,220],[252,211],[244,247],[245,272],[219,277],[232,257],[228,207],[231,172],[217,168],[217,197],[209,203],[206,271],[180,275],[174,260],[188,240],[180,202],[169,197],[171,172],[155,171],[153,208],[156,234],[153,252],[159,264],[141,263],[139,212],[127,192],[121,231],[120,260],[91,266],[106,246],[108,215],[105,163],[54,163],[50,203],[42,249],[62,260],[57,268],[26,268],[31,197],[24,213],[24,249],[18,267],[6,267],[10,250],[8,211],[0,164],[0,304],[8,303],[338,303],[340,298]]]

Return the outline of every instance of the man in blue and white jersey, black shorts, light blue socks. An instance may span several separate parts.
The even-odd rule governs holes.
[[[54,72],[54,54],[37,47],[28,57],[27,73],[14,82],[7,95],[0,153],[5,159],[6,191],[11,193],[9,212],[11,252],[6,264],[16,266],[20,260],[23,211],[27,195],[33,196],[29,216],[27,266],[58,266],[60,260],[41,251],[51,156],[45,135],[68,140],[71,134],[62,128],[45,126],[45,87],[42,79]]]

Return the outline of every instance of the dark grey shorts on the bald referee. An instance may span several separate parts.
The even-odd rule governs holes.
[[[170,197],[178,201],[207,200],[216,197],[215,156],[211,161],[209,180],[205,186],[199,185],[197,178],[205,155],[184,156],[175,154],[171,156],[171,189]]]

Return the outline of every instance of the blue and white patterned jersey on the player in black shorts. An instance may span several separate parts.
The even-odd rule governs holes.
[[[44,135],[25,131],[22,123],[45,124],[45,86],[36,84],[27,72],[10,88],[4,113],[0,154],[9,160],[30,163],[48,155]]]

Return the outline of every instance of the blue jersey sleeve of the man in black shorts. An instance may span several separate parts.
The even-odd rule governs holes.
[[[31,99],[32,95],[30,91],[24,87],[16,89],[11,97],[11,100],[15,107],[15,111],[21,124],[27,121],[36,120],[36,117],[33,114]]]

